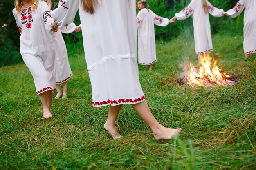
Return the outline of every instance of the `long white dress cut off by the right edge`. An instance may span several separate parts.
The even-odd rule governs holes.
[[[244,53],[256,53],[256,0],[240,0],[227,13],[234,18],[244,9]]]

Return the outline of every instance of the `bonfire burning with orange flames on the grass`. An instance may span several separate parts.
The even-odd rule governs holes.
[[[179,80],[180,84],[189,86],[234,86],[236,76],[231,76],[220,70],[218,60],[209,56],[209,53],[201,55],[200,68],[190,63],[190,72]]]

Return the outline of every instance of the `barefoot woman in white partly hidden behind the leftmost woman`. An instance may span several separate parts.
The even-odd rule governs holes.
[[[42,0],[42,1],[46,2],[49,9],[51,9],[52,7],[51,0]],[[59,2],[59,4],[61,5],[61,2]],[[68,61],[66,44],[61,33],[69,34],[74,31],[79,31],[80,29],[81,29],[81,26],[76,26],[76,24],[71,23],[71,24],[67,24],[62,29],[60,29],[60,31],[58,31],[53,35],[55,58],[56,58],[57,95],[55,99],[59,99],[61,96],[63,99],[67,97],[67,81],[73,75],[70,68],[70,63]],[[61,91],[61,86],[60,86],[61,84],[63,85],[63,92]]]

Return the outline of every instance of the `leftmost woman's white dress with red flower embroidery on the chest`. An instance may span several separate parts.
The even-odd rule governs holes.
[[[34,12],[31,6],[22,6],[20,13],[13,9],[21,34],[20,54],[33,75],[37,94],[55,91],[54,48],[52,37],[47,31],[53,22],[49,10],[45,2],[39,2]]]

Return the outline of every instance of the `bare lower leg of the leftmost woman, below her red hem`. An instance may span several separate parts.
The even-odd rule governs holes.
[[[49,109],[49,93],[52,93],[52,91],[45,91],[44,93],[39,94],[41,102],[43,104],[43,117],[45,119],[52,117],[51,110]]]

